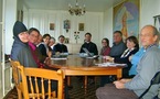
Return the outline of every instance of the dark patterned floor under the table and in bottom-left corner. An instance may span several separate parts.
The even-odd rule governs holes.
[[[89,84],[87,89],[83,88],[83,81],[77,77],[72,77],[71,79],[73,88],[70,89],[71,99],[97,99],[95,91],[98,88],[99,84]],[[12,89],[3,99],[18,99],[17,90]]]

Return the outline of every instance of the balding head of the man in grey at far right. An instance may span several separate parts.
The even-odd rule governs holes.
[[[140,41],[143,47],[148,47],[159,42],[159,32],[152,25],[146,25],[141,29]]]

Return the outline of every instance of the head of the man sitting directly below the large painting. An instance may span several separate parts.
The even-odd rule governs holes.
[[[122,41],[122,33],[120,31],[114,32],[114,43],[118,44]]]

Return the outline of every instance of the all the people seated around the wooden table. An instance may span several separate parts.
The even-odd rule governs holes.
[[[65,37],[58,36],[60,43],[55,44],[55,38],[50,34],[40,34],[39,30],[31,28],[29,31],[22,22],[17,21],[13,26],[13,46],[11,51],[11,59],[19,61],[25,67],[49,68],[45,64],[52,55],[57,53],[68,53],[66,45],[64,45]],[[160,69],[160,50],[158,48],[159,32],[152,25],[145,26],[140,32],[140,40],[142,47],[139,50],[138,40],[136,36],[126,38],[126,44],[122,40],[120,31],[114,32],[114,43],[109,46],[107,37],[102,40],[100,55],[109,62],[125,63],[127,67],[122,68],[122,78],[115,81],[110,80],[114,76],[102,76],[100,88],[97,89],[96,96],[98,99],[136,99],[149,86],[153,75]],[[85,42],[82,45],[79,53],[84,53],[83,48],[87,48],[89,53],[98,55],[97,45],[92,42],[92,34],[85,34]],[[116,86],[113,86],[113,82]],[[107,84],[107,85],[106,85]],[[116,89],[117,88],[117,89]],[[55,89],[55,88],[54,88]],[[122,92],[127,91],[127,96]],[[127,90],[129,89],[129,90]],[[111,90],[111,91],[110,91]],[[150,92],[148,97],[157,95],[157,88],[153,88],[154,94]],[[65,98],[68,99],[67,88],[65,90]],[[121,94],[121,95],[120,95]],[[121,97],[122,96],[122,97]]]

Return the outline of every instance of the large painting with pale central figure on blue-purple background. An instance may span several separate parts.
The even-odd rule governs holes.
[[[139,0],[125,0],[114,8],[114,31],[121,31],[122,38],[139,33]]]

